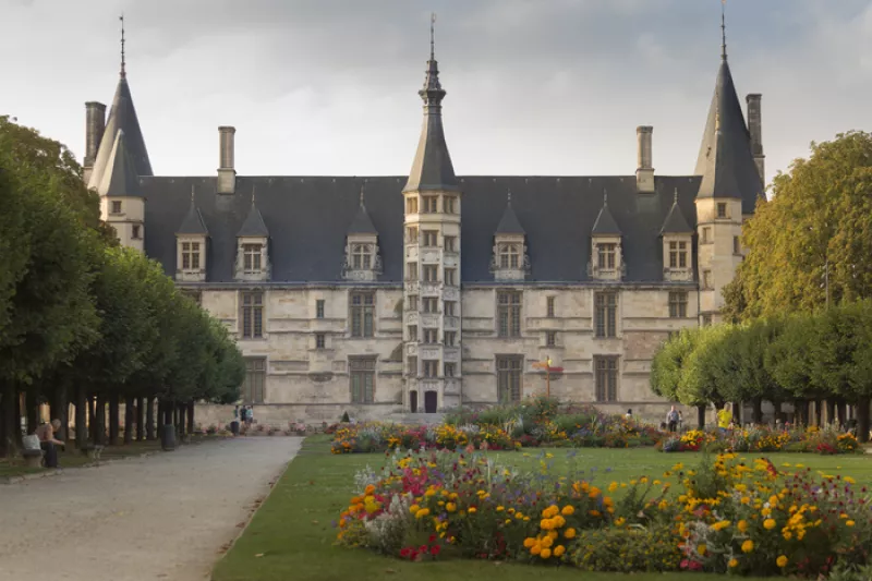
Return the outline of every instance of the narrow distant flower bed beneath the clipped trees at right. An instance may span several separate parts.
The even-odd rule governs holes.
[[[853,434],[833,427],[819,429],[773,429],[756,426],[732,429],[725,434],[691,429],[680,436],[673,435],[659,444],[664,452],[698,451],[702,448],[737,452],[813,452],[822,455],[856,453],[862,451]]]

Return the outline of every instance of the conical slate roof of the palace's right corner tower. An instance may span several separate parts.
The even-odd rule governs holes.
[[[751,153],[751,134],[726,56],[717,72],[694,173],[702,175],[700,197],[738,197],[742,214],[753,214],[756,198],[764,195],[763,180]]]

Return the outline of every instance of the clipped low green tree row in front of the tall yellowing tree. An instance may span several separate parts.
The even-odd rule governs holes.
[[[758,318],[739,325],[683,329],[654,356],[651,387],[659,396],[700,410],[728,401],[752,403],[763,420],[770,401],[808,422],[810,401],[826,401],[828,416],[857,407],[857,432],[869,438],[872,399],[872,301],[845,303],[818,315]],[[838,410],[838,413],[836,413]]]

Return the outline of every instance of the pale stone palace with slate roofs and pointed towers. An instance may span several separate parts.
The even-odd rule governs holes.
[[[552,395],[662,419],[652,356],[718,320],[764,195],[760,95],[746,124],[724,50],[694,171],[656,174],[640,126],[635,172],[606,177],[456,175],[433,51],[419,95],[408,175],[238,174],[221,126],[215,174],[160,177],[122,60],[108,118],[86,104],[85,179],[121,243],[234,334],[261,421],[518,401],[548,360]]]

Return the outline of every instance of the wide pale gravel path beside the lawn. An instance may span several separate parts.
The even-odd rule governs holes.
[[[0,485],[0,580],[208,579],[301,440],[182,446]]]

